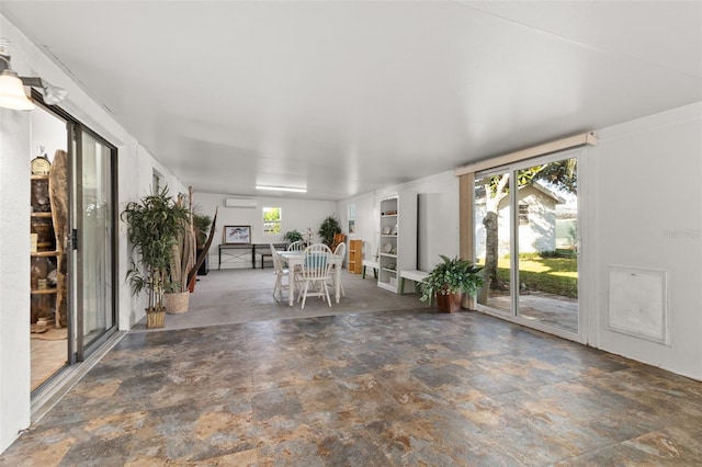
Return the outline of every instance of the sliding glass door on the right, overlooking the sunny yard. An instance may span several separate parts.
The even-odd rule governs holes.
[[[577,153],[475,176],[478,304],[556,333],[578,333]]]

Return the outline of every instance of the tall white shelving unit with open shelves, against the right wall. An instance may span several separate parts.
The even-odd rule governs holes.
[[[399,293],[399,271],[417,269],[417,194],[381,200],[377,286]]]

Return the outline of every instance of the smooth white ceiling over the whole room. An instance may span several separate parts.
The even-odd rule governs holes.
[[[0,12],[196,192],[336,201],[702,101],[700,1]]]

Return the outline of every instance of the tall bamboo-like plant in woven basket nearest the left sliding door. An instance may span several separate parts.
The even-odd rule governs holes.
[[[127,223],[127,237],[138,255],[138,262],[132,258],[132,267],[127,271],[132,293],[147,292],[146,327],[162,328],[163,295],[173,289],[168,267],[178,234],[189,218],[189,209],[169,196],[168,186],[165,186],[138,202],[128,202],[121,218]]]

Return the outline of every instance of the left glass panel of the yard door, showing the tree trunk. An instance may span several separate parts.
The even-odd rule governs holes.
[[[509,172],[475,180],[476,263],[485,271],[477,301],[505,312],[512,310],[509,186]]]

